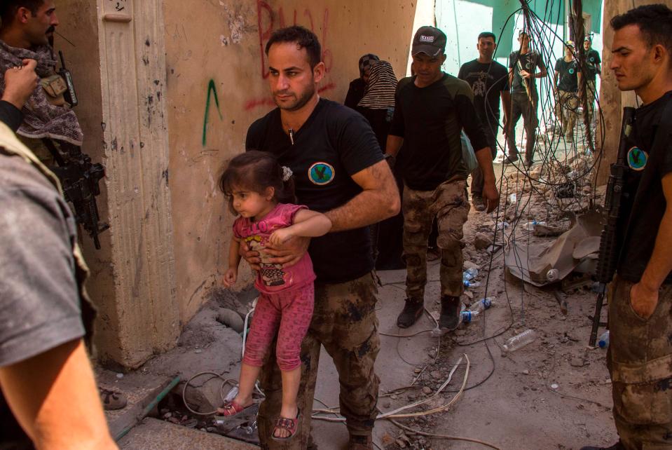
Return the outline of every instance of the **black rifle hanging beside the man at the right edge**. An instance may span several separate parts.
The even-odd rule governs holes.
[[[623,197],[623,188],[625,183],[625,174],[628,170],[626,157],[628,152],[627,138],[632,131],[633,121],[635,119],[635,109],[625,107],[623,109],[623,121],[621,123],[621,137],[618,144],[618,154],[616,163],[611,165],[611,174],[607,183],[607,196],[604,200],[605,225],[600,236],[600,252],[597,263],[597,281],[600,283],[600,292],[595,304],[595,314],[593,315],[593,327],[590,332],[589,344],[595,346],[597,332],[600,327],[600,315],[604,302],[604,294],[607,283],[611,282],[616,273],[618,263],[618,249],[616,242],[616,225],[619,221],[621,210],[621,199]]]

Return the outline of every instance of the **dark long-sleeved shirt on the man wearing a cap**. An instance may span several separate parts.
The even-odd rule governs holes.
[[[425,88],[415,77],[399,81],[390,135],[404,138],[397,164],[404,183],[416,191],[433,191],[453,177],[467,179],[460,131],[476,151],[488,146],[466,81],[444,74]]]

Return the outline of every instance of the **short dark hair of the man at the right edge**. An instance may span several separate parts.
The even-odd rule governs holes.
[[[638,6],[611,20],[611,27],[615,30],[627,25],[639,27],[649,48],[661,44],[672,53],[672,10],[667,6],[662,4]]]

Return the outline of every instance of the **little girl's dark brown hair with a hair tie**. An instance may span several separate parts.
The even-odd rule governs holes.
[[[263,195],[266,188],[275,189],[277,203],[296,203],[294,177],[282,181],[282,166],[275,156],[266,151],[250,150],[233,158],[219,177],[219,190],[228,197],[228,207],[233,214],[233,189],[246,189]]]

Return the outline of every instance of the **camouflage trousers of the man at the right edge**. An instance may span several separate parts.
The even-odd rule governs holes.
[[[648,319],[630,304],[633,283],[610,287],[609,352],[614,418],[628,450],[672,449],[672,285]]]

